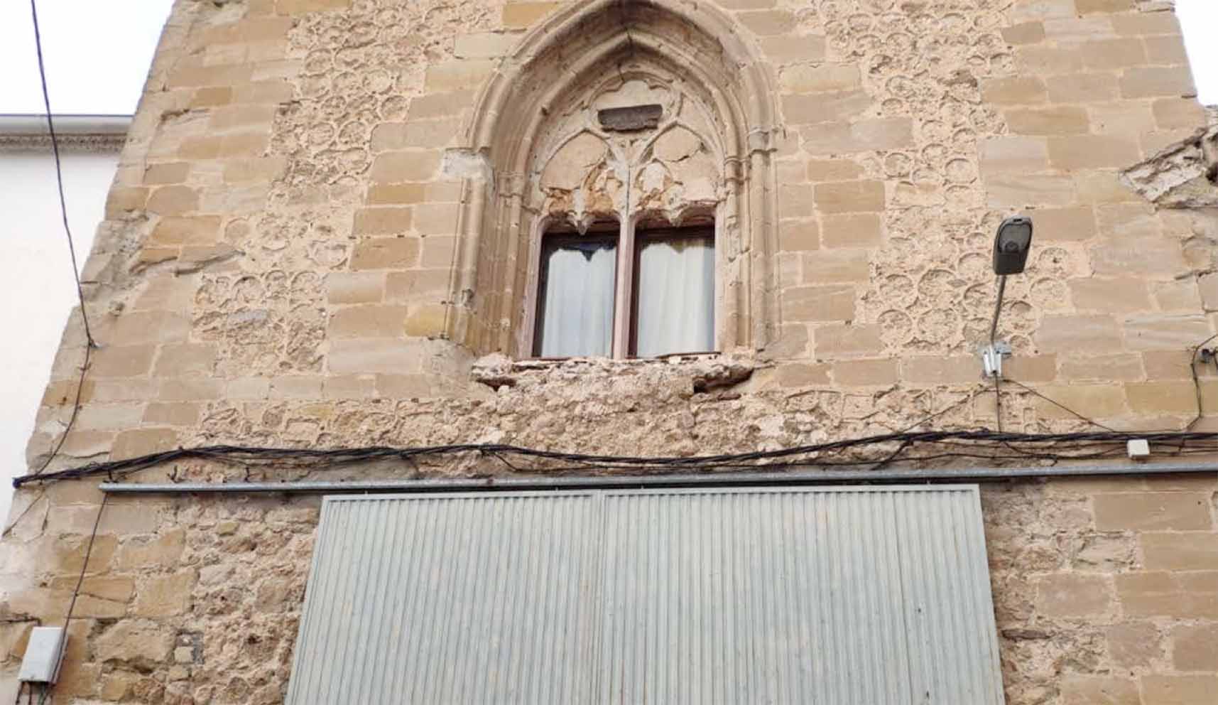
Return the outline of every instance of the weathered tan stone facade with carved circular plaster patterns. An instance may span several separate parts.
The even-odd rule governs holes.
[[[681,117],[647,144],[581,122],[644,98]],[[1086,428],[1033,388],[1183,429],[1218,311],[1214,144],[1162,1],[178,0],[86,266],[101,346],[78,384],[68,322],[30,467],[78,390],[52,471],[218,443],[694,455],[994,427],[976,350],[993,232],[1021,211],[1004,427]],[[714,218],[722,354],[523,360],[541,223],[605,213]],[[244,477],[317,474],[129,479]],[[17,494],[0,695],[84,568],[57,701],[279,701],[317,499],[111,499],[84,566],[96,482]],[[1010,703],[1213,701],[1218,476],[983,505]]]

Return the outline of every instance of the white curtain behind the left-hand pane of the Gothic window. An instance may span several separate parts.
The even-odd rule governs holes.
[[[559,245],[549,251],[546,268],[541,356],[611,355],[618,248],[610,243]]]

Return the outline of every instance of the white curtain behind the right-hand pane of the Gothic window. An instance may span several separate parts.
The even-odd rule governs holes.
[[[710,240],[643,244],[637,326],[639,357],[715,349],[715,248]]]

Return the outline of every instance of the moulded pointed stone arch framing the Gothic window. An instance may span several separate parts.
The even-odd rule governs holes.
[[[537,157],[546,149],[542,133],[555,115],[572,110],[572,94],[596,95],[587,87],[625,82],[626,71],[664,74],[704,106],[715,133],[706,143],[715,146],[708,151],[719,161],[722,188],[702,207],[714,209],[725,252],[719,348],[758,349],[773,338],[771,157],[780,128],[764,63],[734,21],[710,4],[592,0],[549,16],[520,40],[479,94],[465,146],[447,157],[462,162],[465,176],[448,321],[453,340],[477,354],[529,354],[531,259],[540,228],[552,220],[532,198],[544,168]]]

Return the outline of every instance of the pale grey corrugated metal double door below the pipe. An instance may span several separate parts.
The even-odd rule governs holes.
[[[287,701],[1001,704],[976,487],[326,498]]]

